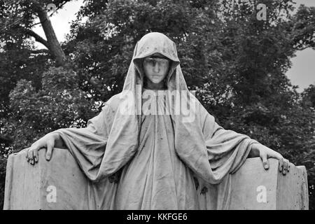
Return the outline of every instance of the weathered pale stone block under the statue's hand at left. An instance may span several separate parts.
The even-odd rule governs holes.
[[[85,209],[87,179],[69,151],[55,148],[48,162],[42,149],[35,166],[25,157],[8,158],[3,209]]]

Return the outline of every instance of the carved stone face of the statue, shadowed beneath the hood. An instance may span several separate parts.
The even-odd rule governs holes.
[[[169,59],[160,54],[144,58],[144,73],[148,80],[158,84],[164,80],[169,71]]]

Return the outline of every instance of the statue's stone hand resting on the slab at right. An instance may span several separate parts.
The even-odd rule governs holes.
[[[279,160],[279,172],[281,172],[283,175],[286,175],[286,173],[288,173],[290,170],[289,160],[286,160],[280,153],[277,153],[276,151],[273,151],[271,148],[268,148],[262,144],[253,144],[251,147],[250,156],[259,156],[265,169],[269,169],[269,162],[267,159],[275,158]]]

